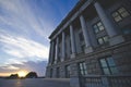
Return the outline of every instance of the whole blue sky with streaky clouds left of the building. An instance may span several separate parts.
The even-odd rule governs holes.
[[[45,75],[49,35],[79,0],[0,0],[0,76]]]

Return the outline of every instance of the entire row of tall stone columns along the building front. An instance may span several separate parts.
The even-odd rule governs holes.
[[[106,27],[106,32],[107,32],[108,36],[111,38],[112,42],[110,41],[110,44],[115,45],[115,44],[118,44],[118,42],[122,42],[123,41],[122,37],[116,37],[116,36],[118,36],[118,33],[116,32],[116,27],[114,26],[112,22],[110,22],[110,20],[108,18],[108,16],[107,16],[105,10],[103,9],[103,7],[97,1],[94,2],[94,7],[96,9],[96,12],[97,12],[100,21],[103,22],[104,26]],[[92,48],[91,40],[90,40],[90,37],[88,37],[90,35],[87,33],[86,22],[85,22],[84,16],[82,14],[80,15],[80,22],[81,22],[81,26],[82,26],[84,40],[85,40],[85,53],[93,52],[93,48]],[[75,58],[76,48],[75,48],[75,40],[74,40],[74,28],[73,28],[72,25],[70,25],[70,39],[71,39],[71,51],[72,51],[71,58]],[[58,46],[59,46],[59,37],[57,37],[57,42],[56,42],[56,57],[55,57],[56,60],[58,58]],[[50,51],[51,55],[49,57],[49,59],[51,59],[51,61],[52,61],[53,55],[55,55],[53,54],[55,53],[53,52],[53,47],[55,47],[53,41],[50,44],[50,47],[51,47],[51,49],[50,49],[51,50]],[[62,32],[61,61],[64,61],[64,58],[66,58],[66,34],[64,34],[64,32]]]

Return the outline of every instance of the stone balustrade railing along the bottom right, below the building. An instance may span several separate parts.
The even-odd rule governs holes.
[[[131,87],[131,76],[85,76],[84,87]]]

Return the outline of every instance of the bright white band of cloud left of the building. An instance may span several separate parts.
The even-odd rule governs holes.
[[[1,34],[0,42],[3,45],[2,50],[15,58],[21,58],[24,60],[32,60],[32,58],[37,58],[34,61],[47,60],[48,58],[47,46],[31,39],[26,39],[24,37]]]

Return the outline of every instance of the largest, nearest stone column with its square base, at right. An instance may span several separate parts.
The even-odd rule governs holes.
[[[116,44],[120,44],[120,42],[124,41],[122,36],[118,36],[116,27],[114,26],[112,22],[107,16],[103,7],[97,1],[94,3],[94,7],[95,7],[96,12],[97,12],[98,16],[100,17],[103,24],[106,27],[107,34],[110,37],[110,45],[116,45]]]

